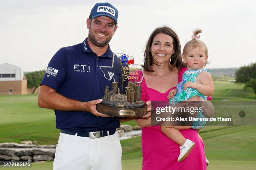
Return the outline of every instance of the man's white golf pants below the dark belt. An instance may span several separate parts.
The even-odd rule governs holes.
[[[119,135],[90,139],[60,133],[54,170],[121,170]]]

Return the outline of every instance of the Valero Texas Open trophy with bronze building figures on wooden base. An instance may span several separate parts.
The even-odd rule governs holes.
[[[141,100],[141,85],[143,79],[143,67],[134,64],[132,56],[115,53],[120,62],[121,67],[121,89],[119,83],[112,82],[111,87],[105,87],[105,93],[102,102],[96,105],[96,110],[105,115],[117,117],[143,117],[147,114],[146,103]],[[114,60],[113,56],[113,60]],[[112,65],[113,66],[113,65]],[[104,75],[102,66],[100,66]],[[105,76],[106,77],[106,76]],[[111,76],[110,76],[111,77]],[[112,78],[106,77],[108,80]],[[124,87],[127,84],[127,87]]]

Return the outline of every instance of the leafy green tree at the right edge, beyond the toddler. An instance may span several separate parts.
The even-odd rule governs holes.
[[[240,67],[236,71],[236,83],[244,84],[244,89],[251,87],[256,98],[256,62],[248,66]]]

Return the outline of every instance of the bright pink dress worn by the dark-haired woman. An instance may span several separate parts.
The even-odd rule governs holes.
[[[182,80],[182,75],[186,68],[182,67],[179,71],[178,81]],[[176,88],[172,87],[165,93],[147,87],[143,78],[141,82],[141,99],[146,102],[167,101],[169,91]],[[178,162],[179,145],[170,140],[161,132],[160,126],[142,128],[141,147],[142,147],[142,170],[206,170],[204,143],[199,138],[197,131],[194,129],[180,130],[185,138],[195,142],[188,157]]]

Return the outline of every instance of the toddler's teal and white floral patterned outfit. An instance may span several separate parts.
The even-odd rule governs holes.
[[[177,84],[177,94],[174,96],[174,98],[169,100],[169,105],[176,105],[178,102],[182,102],[185,100],[189,100],[190,98],[194,96],[199,96],[203,100],[207,99],[207,96],[202,95],[199,91],[192,89],[190,87],[187,88],[187,90],[184,90],[184,84],[188,81],[196,82],[197,75],[199,75],[200,72],[207,71],[206,69],[200,69],[200,70],[187,70],[182,75],[182,81]],[[198,112],[196,118],[205,118],[205,115],[202,112]],[[205,126],[205,121],[193,121],[192,129],[201,129]]]

